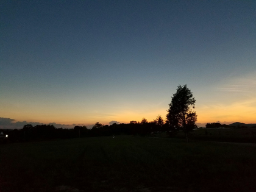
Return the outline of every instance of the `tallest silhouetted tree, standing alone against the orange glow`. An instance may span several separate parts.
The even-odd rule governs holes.
[[[169,104],[168,114],[166,118],[174,129],[182,129],[185,132],[188,142],[188,132],[196,127],[197,115],[192,111],[196,99],[193,98],[192,92],[187,85],[179,85],[176,93],[173,94],[171,103]]]

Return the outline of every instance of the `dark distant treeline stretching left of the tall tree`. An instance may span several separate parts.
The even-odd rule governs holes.
[[[8,135],[9,142],[23,142],[23,141],[40,141],[52,139],[66,139],[79,137],[101,137],[113,135],[140,135],[144,137],[151,132],[168,131],[168,124],[158,125],[156,122],[148,122],[143,119],[141,123],[137,121],[130,121],[129,124],[112,124],[102,125],[96,123],[92,129],[87,129],[86,126],[75,126],[73,129],[55,128],[53,125],[24,125],[23,129],[14,130],[0,130],[4,135]]]

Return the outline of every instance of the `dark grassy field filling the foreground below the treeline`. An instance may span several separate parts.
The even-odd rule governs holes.
[[[256,191],[256,147],[130,136],[0,146],[0,191]]]

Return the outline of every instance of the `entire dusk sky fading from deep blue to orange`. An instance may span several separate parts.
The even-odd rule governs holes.
[[[1,1],[0,127],[256,123],[256,1]],[[24,124],[23,123],[23,124]]]

